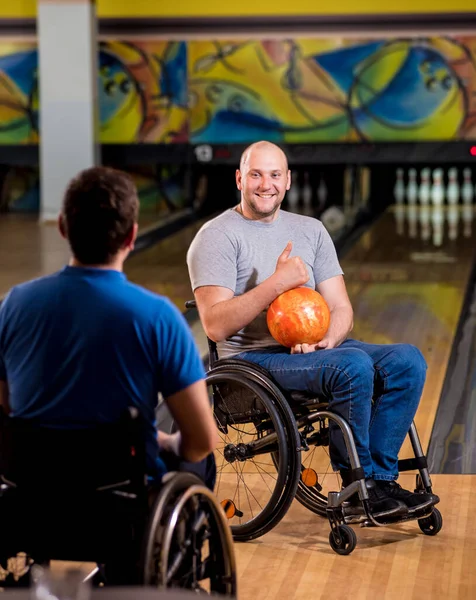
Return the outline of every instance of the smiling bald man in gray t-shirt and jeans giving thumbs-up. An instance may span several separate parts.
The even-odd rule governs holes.
[[[204,225],[187,255],[205,332],[218,342],[220,358],[236,355],[265,368],[284,389],[326,398],[353,431],[374,516],[417,517],[438,497],[414,494],[395,480],[425,383],[421,352],[409,344],[348,338],[353,311],[332,240],[318,220],[280,208],[291,185],[280,148],[249,146],[236,184],[241,203]],[[266,310],[300,286],[322,294],[331,321],[320,342],[289,350],[270,336]],[[342,435],[332,425],[330,434],[332,463],[347,485],[352,473]]]

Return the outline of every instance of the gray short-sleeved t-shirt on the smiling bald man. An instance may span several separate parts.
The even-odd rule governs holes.
[[[307,266],[306,287],[342,275],[334,243],[324,225],[312,217],[280,210],[272,223],[246,219],[228,209],[202,226],[187,253],[192,289],[217,285],[240,296],[262,283],[291,241],[290,256],[300,256]],[[266,324],[266,310],[246,327],[218,344],[220,358],[245,350],[276,347]]]

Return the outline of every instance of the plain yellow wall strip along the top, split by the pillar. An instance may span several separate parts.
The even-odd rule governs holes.
[[[332,15],[332,14],[385,14],[385,13],[435,13],[474,12],[475,0],[340,0],[316,2],[293,0],[277,3],[276,0],[97,0],[100,17],[230,17],[259,15]],[[34,17],[37,0],[0,0],[0,18]]]

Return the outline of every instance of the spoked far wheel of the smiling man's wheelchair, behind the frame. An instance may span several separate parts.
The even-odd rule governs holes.
[[[315,427],[311,432],[301,431],[309,446],[301,452],[301,473],[296,498],[312,512],[325,517],[328,493],[339,491],[342,480],[332,468],[328,438],[320,435],[326,431],[326,427],[319,423]]]

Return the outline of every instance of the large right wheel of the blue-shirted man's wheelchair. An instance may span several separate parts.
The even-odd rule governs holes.
[[[169,477],[151,511],[144,584],[236,597],[233,540],[221,506],[195,475]]]

